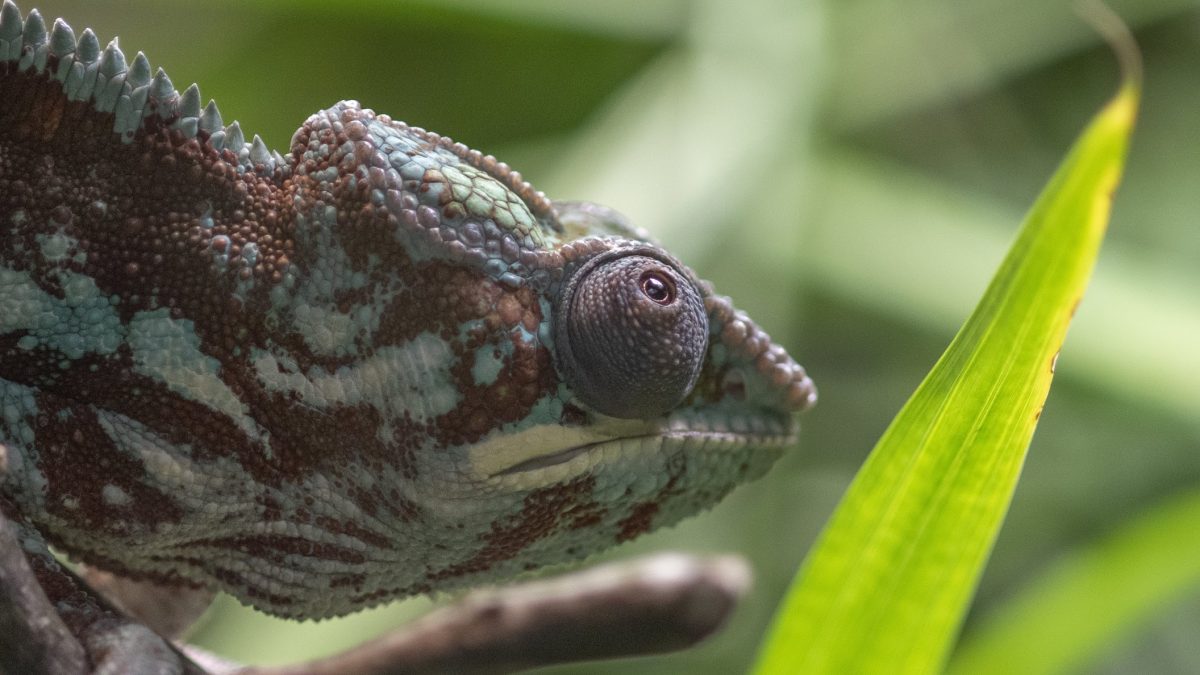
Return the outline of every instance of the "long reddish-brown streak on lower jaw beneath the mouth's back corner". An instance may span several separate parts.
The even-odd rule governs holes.
[[[426,579],[437,584],[445,579],[478,574],[498,562],[520,556],[529,544],[550,537],[563,522],[571,522],[575,515],[594,513],[594,489],[595,478],[586,476],[529,492],[521,513],[504,522],[492,524],[492,531],[484,537],[484,548],[475,555],[445,569],[430,572]]]

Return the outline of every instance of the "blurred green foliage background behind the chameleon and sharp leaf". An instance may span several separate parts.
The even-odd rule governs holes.
[[[757,583],[727,629],[690,652],[562,674],[748,667],[856,468],[1117,83],[1057,0],[20,5],[120,35],[281,151],[308,114],[358,98],[497,155],[552,197],[612,205],[808,366],[821,402],[775,470],[602,556],[745,555]],[[1144,52],[1142,115],[967,637],[1056,560],[1200,486],[1200,5],[1111,5]],[[433,604],[298,625],[224,598],[194,640],[278,663]],[[1200,671],[1200,595],[1159,604],[1079,668]]]

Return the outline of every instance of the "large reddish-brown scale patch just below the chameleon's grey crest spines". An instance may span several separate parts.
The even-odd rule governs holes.
[[[26,177],[30,190],[14,208],[29,210],[34,223],[72,214],[68,233],[89,253],[86,271],[134,310],[152,301],[148,292],[155,288],[160,306],[204,309],[204,300],[227,297],[245,273],[270,280],[287,264],[290,202],[271,179],[239,175],[232,153],[167,130],[169,120],[157,117],[148,118],[133,143],[120,143],[112,114],[66,102],[44,76],[11,73],[0,85],[6,94],[55,100],[64,110],[53,127],[37,126],[37,106],[24,107],[20,96],[16,106],[0,103],[0,142],[13,157],[12,177]],[[198,226],[204,211],[215,221],[211,233]],[[230,239],[228,274],[209,262],[209,234]],[[251,241],[258,262],[239,269],[236,256]]]

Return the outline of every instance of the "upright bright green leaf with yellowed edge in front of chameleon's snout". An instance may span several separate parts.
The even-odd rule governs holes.
[[[788,591],[758,673],[931,673],[944,663],[1104,237],[1136,115],[1135,70],[858,472]]]

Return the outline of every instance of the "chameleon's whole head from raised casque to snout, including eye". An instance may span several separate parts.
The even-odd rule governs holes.
[[[325,329],[296,317],[328,322],[331,299],[305,305],[350,295],[331,277],[384,298],[365,313],[380,315],[372,363],[394,365],[372,413],[386,443],[349,464],[388,495],[359,513],[401,537],[372,552],[394,565],[314,593],[306,615],[510,577],[676,522],[762,474],[816,400],[782,347],[616,211],[551,202],[493,157],[354,102],[310,118],[292,157],[296,291],[275,324]],[[313,274],[330,259],[361,269]],[[385,282],[362,288],[371,279]]]

